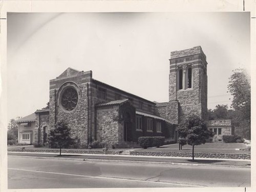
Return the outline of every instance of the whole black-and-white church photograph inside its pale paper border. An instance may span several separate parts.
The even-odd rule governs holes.
[[[7,12],[7,188],[253,191],[254,16]]]

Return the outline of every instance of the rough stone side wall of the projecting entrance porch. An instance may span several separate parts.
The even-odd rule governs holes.
[[[97,138],[107,143],[119,141],[119,106],[97,109]]]

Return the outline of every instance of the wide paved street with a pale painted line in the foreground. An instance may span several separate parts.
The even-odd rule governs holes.
[[[8,156],[8,188],[249,187],[250,168]]]

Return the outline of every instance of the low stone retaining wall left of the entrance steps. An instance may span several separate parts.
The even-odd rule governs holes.
[[[59,153],[59,149],[8,149],[8,152],[53,152],[53,153]],[[67,149],[61,149],[61,153],[82,153],[82,154],[105,154],[103,150],[67,150]],[[119,151],[117,150],[108,150],[106,151],[107,155],[119,155]]]

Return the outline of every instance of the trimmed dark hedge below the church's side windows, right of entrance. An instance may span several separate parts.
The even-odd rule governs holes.
[[[164,137],[139,137],[138,143],[141,147],[159,147],[164,145]]]

